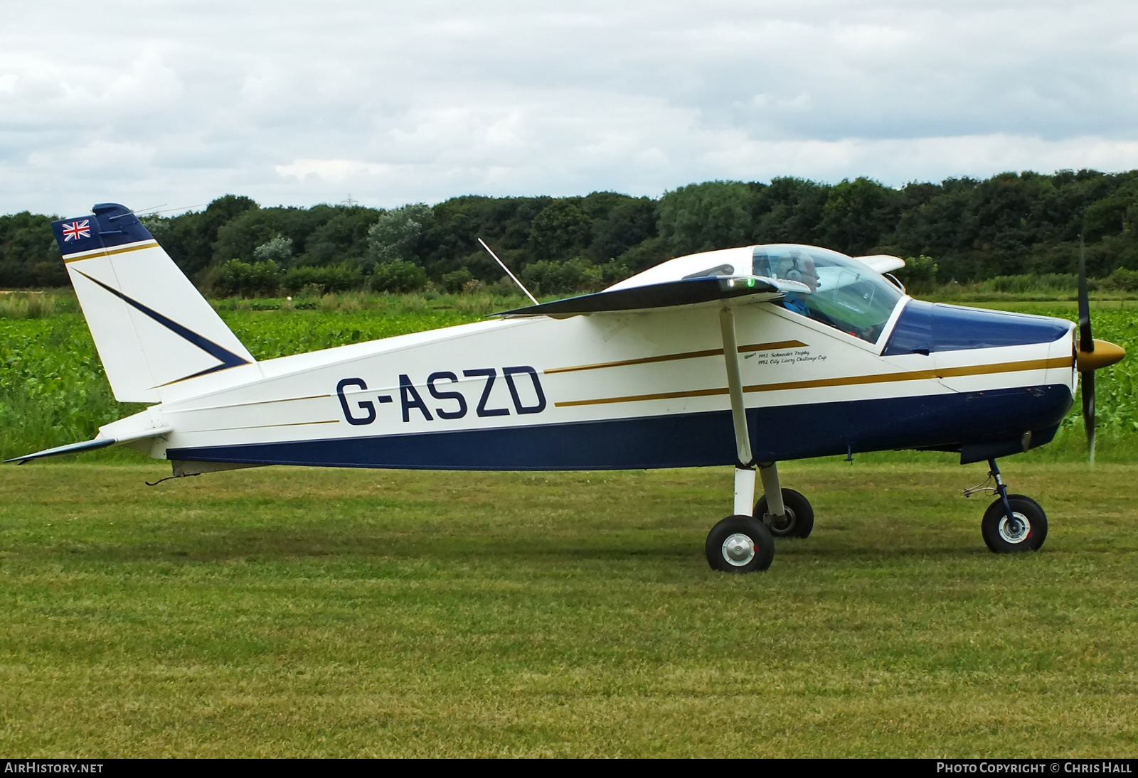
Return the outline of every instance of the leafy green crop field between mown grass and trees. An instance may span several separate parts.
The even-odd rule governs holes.
[[[348,298],[347,301],[353,301]],[[247,300],[245,304],[265,304]],[[258,359],[318,348],[386,338],[481,320],[520,304],[517,298],[419,296],[377,298],[356,309],[273,309],[223,306],[222,317]],[[986,304],[995,305],[995,304]],[[38,318],[6,317],[0,307],[0,456],[92,438],[100,424],[142,406],[115,402],[102,373],[86,322],[65,298],[63,313]],[[1073,303],[1008,303],[1006,309],[1077,318]],[[1138,353],[1138,301],[1094,305],[1095,334]],[[1098,442],[1104,461],[1138,457],[1138,359],[1130,358],[1098,373]],[[1061,430],[1049,456],[1080,457],[1085,438],[1078,407]],[[89,462],[142,462],[134,452],[109,449],[84,455]]]

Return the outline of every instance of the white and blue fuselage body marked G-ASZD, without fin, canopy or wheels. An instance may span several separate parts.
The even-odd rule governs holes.
[[[893,448],[1003,456],[1048,441],[1075,388],[1062,320],[905,299],[874,342],[772,304],[737,306],[735,321],[759,462]],[[173,432],[145,444],[183,472],[736,461],[708,306],[488,321],[241,365],[164,394],[141,415]]]

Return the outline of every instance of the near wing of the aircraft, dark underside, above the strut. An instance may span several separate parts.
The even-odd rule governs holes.
[[[644,311],[677,305],[696,305],[718,300],[764,303],[781,298],[785,292],[809,292],[806,284],[757,275],[704,276],[651,283],[643,287],[610,289],[563,300],[529,305],[495,314],[496,316],[577,316],[592,313]],[[740,300],[743,301],[743,300]]]

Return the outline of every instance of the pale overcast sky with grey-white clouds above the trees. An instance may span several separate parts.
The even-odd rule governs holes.
[[[1132,0],[9,0],[0,213],[1138,168]]]

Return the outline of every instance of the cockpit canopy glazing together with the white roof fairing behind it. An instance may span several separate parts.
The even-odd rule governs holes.
[[[787,292],[781,305],[792,313],[877,342],[901,291],[863,262],[839,251],[774,243],[704,251],[677,257],[613,284],[626,289],[681,279],[744,276],[795,281],[806,290]]]

